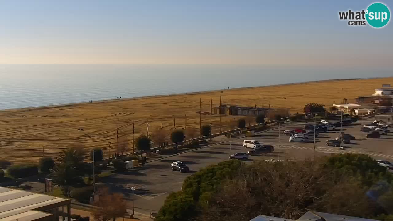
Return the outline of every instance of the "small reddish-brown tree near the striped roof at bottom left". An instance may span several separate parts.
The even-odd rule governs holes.
[[[127,210],[127,202],[121,193],[110,193],[108,188],[99,190],[98,201],[94,203],[92,215],[97,221],[116,221],[117,217],[123,217]]]

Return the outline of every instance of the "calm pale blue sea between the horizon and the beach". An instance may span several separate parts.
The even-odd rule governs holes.
[[[390,70],[256,65],[0,64],[0,109],[391,75]]]

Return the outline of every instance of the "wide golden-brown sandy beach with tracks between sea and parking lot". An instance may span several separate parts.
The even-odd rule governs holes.
[[[344,98],[371,95],[382,84],[392,84],[393,77],[375,79],[333,80],[290,85],[238,88],[192,94],[176,94],[129,98],[93,103],[76,103],[59,106],[10,109],[0,111],[0,159],[11,162],[38,162],[42,156],[56,157],[72,144],[83,144],[87,149],[102,147],[105,155],[116,151],[116,125],[120,140],[128,140],[132,149],[132,124],[135,137],[160,127],[169,134],[176,128],[195,127],[199,131],[199,101],[202,112],[209,112],[210,98],[213,107],[243,105],[286,108],[290,113],[303,112],[305,103],[341,103]],[[240,118],[237,116],[236,118]],[[222,116],[222,130],[230,116]],[[202,125],[210,123],[208,114],[202,115]],[[219,132],[219,116],[212,116],[213,133]],[[81,129],[82,130],[78,130]],[[199,132],[198,132],[199,134]],[[110,142],[110,144],[108,143]]]

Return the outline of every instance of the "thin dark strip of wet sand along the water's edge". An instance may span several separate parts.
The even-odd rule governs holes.
[[[147,98],[165,98],[171,96],[179,96],[179,95],[195,95],[195,94],[205,94],[205,93],[213,93],[213,92],[220,92],[220,91],[235,91],[235,90],[242,90],[242,89],[253,89],[253,88],[269,88],[269,87],[281,87],[281,86],[289,86],[289,85],[299,85],[299,84],[310,84],[310,83],[321,83],[321,82],[329,82],[329,81],[351,81],[351,80],[362,80],[362,79],[383,79],[383,78],[390,78],[390,77],[368,77],[368,78],[348,78],[348,79],[327,79],[327,80],[320,80],[320,81],[303,81],[303,82],[295,82],[295,83],[287,83],[287,84],[279,84],[279,85],[265,85],[265,86],[255,86],[255,87],[239,87],[233,89],[220,89],[220,90],[205,90],[205,91],[197,91],[197,92],[189,92],[185,93],[177,93],[177,94],[162,94],[162,95],[151,95],[151,96],[139,96],[139,97],[132,97],[132,98],[121,98],[121,99],[103,99],[93,101],[93,103],[110,103],[114,101],[129,101],[129,100],[137,100],[137,99],[147,99]],[[80,105],[88,103],[88,101],[84,102],[75,102],[75,103],[59,103],[53,105],[42,105],[42,106],[35,106],[35,107],[20,107],[20,108],[10,108],[10,109],[0,109],[0,112],[6,111],[14,111],[14,110],[40,110],[40,109],[50,109],[50,108],[61,108],[61,107],[72,107],[73,105]]]

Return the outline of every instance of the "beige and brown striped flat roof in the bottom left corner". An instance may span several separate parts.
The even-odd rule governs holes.
[[[34,211],[57,203],[69,203],[69,199],[0,187],[0,221],[31,221],[52,214]]]

